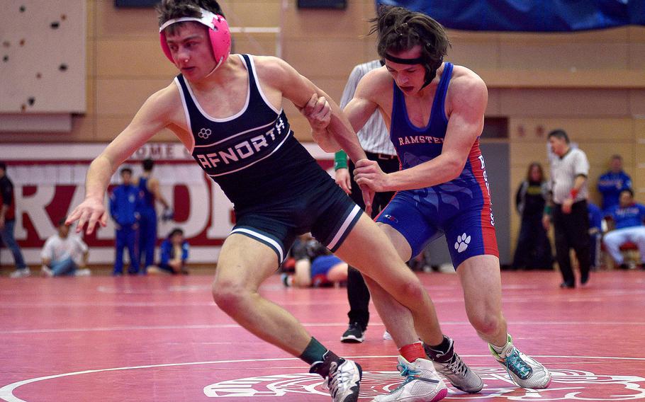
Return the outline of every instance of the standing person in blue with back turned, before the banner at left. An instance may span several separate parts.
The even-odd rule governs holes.
[[[155,201],[164,206],[163,217],[169,217],[170,205],[159,191],[159,180],[152,177],[152,167],[155,163],[147,158],[142,162],[143,173],[139,178],[137,187],[141,190],[143,200],[141,203],[139,221],[139,262],[145,256],[142,272],[155,263],[155,246],[157,244],[157,210]]]

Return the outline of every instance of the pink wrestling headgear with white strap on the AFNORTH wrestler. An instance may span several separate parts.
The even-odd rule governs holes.
[[[194,21],[206,25],[208,27],[208,38],[211,40],[211,48],[213,50],[213,56],[215,57],[215,68],[211,70],[208,75],[213,74],[213,71],[220,67],[223,62],[226,61],[228,54],[230,53],[230,29],[228,28],[228,23],[223,16],[212,13],[211,11],[200,8],[201,18],[197,17],[181,17],[173,18],[172,20],[166,21],[163,25],[159,27],[159,41],[162,45],[162,50],[166,57],[174,63],[172,59],[172,53],[166,42],[166,33],[165,29],[174,23],[181,23],[184,21]]]

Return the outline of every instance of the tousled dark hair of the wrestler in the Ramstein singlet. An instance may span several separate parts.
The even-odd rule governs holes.
[[[373,23],[370,35],[378,33],[376,50],[381,58],[387,52],[403,52],[416,45],[421,47],[421,57],[427,66],[436,70],[448,54],[450,41],[444,27],[424,13],[396,6],[381,6]]]

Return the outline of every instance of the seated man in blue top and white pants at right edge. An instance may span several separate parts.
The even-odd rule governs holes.
[[[634,202],[634,192],[630,189],[620,192],[619,205],[612,209],[610,214],[615,229],[608,231],[602,242],[620,268],[628,268],[620,252],[622,244],[631,241],[639,248],[641,255],[640,267],[645,262],[645,205]]]

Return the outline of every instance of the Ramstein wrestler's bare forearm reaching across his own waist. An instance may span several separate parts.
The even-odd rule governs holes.
[[[463,169],[464,166],[461,163],[439,155],[413,168],[389,173],[386,191],[414,190],[447,183],[459,176]]]

